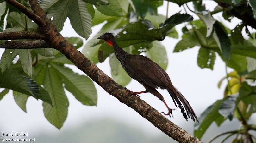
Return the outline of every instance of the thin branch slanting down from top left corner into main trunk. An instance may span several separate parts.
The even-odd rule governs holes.
[[[5,1],[13,5],[14,7],[18,8],[22,13],[26,14],[28,18],[33,20],[37,25],[39,26],[45,25],[45,21],[43,19],[41,19],[36,14],[34,14],[32,11],[30,11],[28,8],[23,6],[21,3],[17,2],[16,0],[5,0]]]

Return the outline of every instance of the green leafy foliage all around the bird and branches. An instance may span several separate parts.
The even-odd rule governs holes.
[[[187,22],[173,52],[200,47],[197,55],[200,68],[213,70],[215,59],[220,56],[227,67],[234,69],[218,84],[220,87],[224,80],[228,80],[223,99],[215,101],[201,114],[199,123],[195,124],[194,134],[201,138],[213,122],[220,126],[226,119],[238,118],[242,127],[232,133],[237,134],[234,142],[241,140],[239,135],[253,128],[253,125],[246,123],[256,112],[256,90],[252,85],[256,80],[256,42],[255,34],[247,28],[252,26],[248,19],[256,22],[255,1],[215,0],[218,6],[213,11],[207,10],[202,1],[167,1],[183,5],[181,8],[193,2],[194,10],[188,9],[199,19],[193,20],[191,15],[181,13],[165,18],[157,12],[163,1],[155,0],[41,0],[40,5],[59,31],[63,29],[66,18],[69,18],[74,30],[85,39],[89,38],[92,26],[103,23],[101,30],[86,42],[82,53],[95,64],[109,57],[111,76],[123,86],[129,84],[131,78],[116,59],[113,49],[97,37],[104,32],[111,32],[125,51],[145,54],[166,69],[167,53],[160,41],[166,36],[178,38],[175,26]],[[26,1],[20,2],[28,7]],[[228,21],[237,17],[242,22],[234,29],[229,29],[212,16],[219,12]],[[244,15],[247,19],[243,19]],[[5,2],[0,3],[0,16],[1,31],[34,31],[37,28],[27,16]],[[242,32],[246,32],[250,38],[244,38]],[[67,40],[76,48],[83,46],[80,38],[70,37]],[[97,91],[91,79],[74,73],[65,64],[72,63],[52,48],[6,49],[0,63],[0,74],[4,77],[0,79],[0,86],[4,88],[0,99],[9,89],[13,90],[15,102],[25,112],[26,101],[30,96],[41,99],[45,117],[60,129],[66,120],[69,105],[64,88],[84,105],[97,104]]]

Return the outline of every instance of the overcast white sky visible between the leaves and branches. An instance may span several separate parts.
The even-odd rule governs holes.
[[[217,5],[213,1],[206,1],[207,8],[213,10]],[[177,4],[169,3],[169,16],[179,12],[180,8]],[[159,14],[166,14],[167,2],[164,1],[164,5],[159,7]],[[191,3],[189,4],[192,8]],[[184,10],[182,9],[182,12]],[[192,14],[194,19],[197,19],[197,16]],[[224,21],[221,19],[221,14],[215,14],[214,17],[219,21]],[[233,19],[232,24],[229,24],[225,21],[226,26],[229,28],[234,28],[239,22],[238,19]],[[92,28],[92,35],[95,35],[98,30],[103,25],[97,25]],[[181,37],[181,28],[184,25],[178,25],[176,28],[178,30],[179,36]],[[61,34],[65,37],[80,37],[73,30],[69,23],[69,19],[66,20],[64,24],[63,31]],[[215,102],[217,99],[221,99],[224,91],[224,86],[221,89],[217,88],[218,81],[225,76],[225,65],[217,56],[214,70],[210,69],[201,69],[197,66],[197,53],[199,48],[195,47],[189,50],[185,50],[179,53],[172,53],[174,46],[180,40],[180,38],[173,39],[166,37],[162,44],[165,46],[169,58],[169,64],[166,72],[169,74],[173,85],[182,92],[186,99],[190,102],[190,105],[193,107],[197,116],[205,110],[209,105]],[[85,41],[85,39],[84,39]],[[85,41],[86,42],[86,41]],[[81,51],[82,49],[80,49]],[[0,55],[3,53],[4,49],[0,49]],[[109,59],[104,63],[98,63],[97,66],[103,70],[104,73],[111,76]],[[75,66],[72,67],[73,71],[84,74]],[[225,85],[226,82],[223,83]],[[78,102],[74,96],[66,91],[66,94],[69,99],[69,108],[68,108],[68,117],[62,127],[62,129],[72,128],[74,125],[82,123],[87,120],[100,119],[100,118],[113,118],[120,122],[125,122],[131,124],[141,129],[147,131],[152,135],[162,134],[159,129],[155,128],[150,122],[142,118],[138,113],[133,109],[127,107],[125,104],[119,102],[113,96],[110,96],[105,92],[100,86],[95,84],[98,94],[98,103],[96,106],[84,106]],[[137,81],[132,80],[132,82],[127,85],[127,88],[132,91],[143,91],[144,87],[140,85]],[[169,107],[174,108],[174,104],[170,95],[167,91],[159,90],[160,93],[164,96]],[[150,93],[142,94],[142,100],[145,100],[152,107],[156,108],[159,112],[166,112],[166,107],[158,98],[151,95]],[[0,130],[8,132],[59,132],[52,124],[50,124],[43,115],[43,107],[41,101],[36,101],[34,98],[29,98],[27,102],[27,112],[24,113],[14,102],[12,92],[9,92],[1,101],[0,101]],[[170,120],[175,124],[181,126],[182,128],[188,129],[191,131],[193,127],[192,121],[186,121],[180,110],[173,112],[174,118]],[[62,130],[61,129],[61,130]]]

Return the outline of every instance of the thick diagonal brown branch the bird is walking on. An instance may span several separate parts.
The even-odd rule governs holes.
[[[105,91],[116,97],[120,102],[126,104],[128,107],[134,109],[143,118],[147,119],[155,127],[163,131],[166,135],[172,137],[174,140],[181,143],[202,143],[201,140],[172,123],[145,101],[136,96],[130,96],[130,92],[128,90],[103,73],[96,65],[73,47],[73,45],[70,44],[61,34],[59,34],[55,26],[49,19],[47,19],[37,0],[29,0],[29,4],[31,5],[34,13],[40,16],[41,19],[45,20],[45,24],[41,23],[42,26],[39,27],[38,31],[48,36],[46,38],[47,44],[62,52],[66,58],[78,67],[78,69],[87,74]],[[20,9],[19,6],[16,6],[16,8]]]

